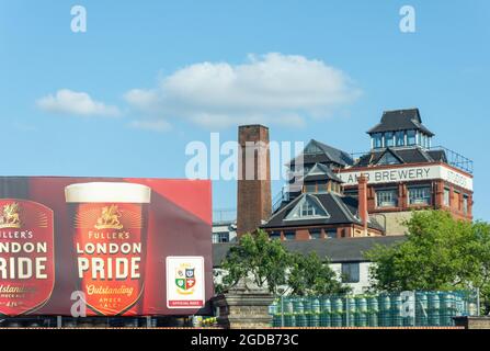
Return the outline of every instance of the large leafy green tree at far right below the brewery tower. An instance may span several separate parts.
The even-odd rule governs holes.
[[[415,212],[406,222],[407,240],[366,253],[372,288],[448,291],[480,288],[490,296],[490,227],[457,220],[443,211]]]

